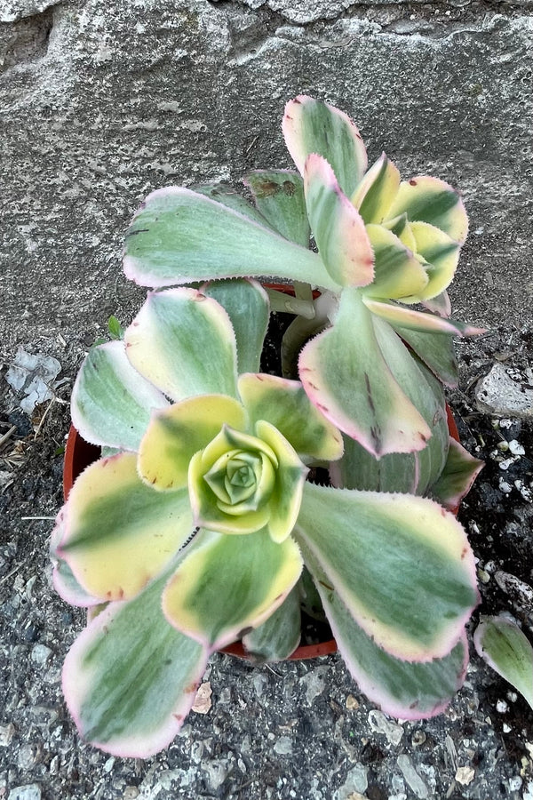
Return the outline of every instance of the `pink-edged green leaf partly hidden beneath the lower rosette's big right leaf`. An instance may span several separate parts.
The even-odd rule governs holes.
[[[338,650],[362,692],[391,716],[425,719],[440,714],[465,680],[468,647],[465,633],[442,659],[425,663],[395,659],[354,620],[311,551],[306,565],[322,597]]]

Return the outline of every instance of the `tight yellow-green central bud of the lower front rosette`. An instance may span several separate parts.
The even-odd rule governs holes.
[[[306,467],[289,442],[267,422],[259,436],[224,425],[196,452],[188,469],[195,521],[211,531],[252,533],[267,527],[283,540],[298,515]]]

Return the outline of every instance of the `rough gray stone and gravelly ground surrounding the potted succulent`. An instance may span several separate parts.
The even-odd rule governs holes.
[[[0,439],[16,427],[0,444],[0,797],[532,800],[533,715],[475,656],[444,716],[398,724],[337,656],[251,668],[218,655],[204,679],[211,709],[191,714],[168,751],[141,762],[88,748],[59,684],[83,620],[50,586],[50,522],[27,518],[60,507],[61,401],[84,349],[142,299],[120,273],[139,201],[290,166],[282,108],[307,92],[354,117],[370,158],[385,149],[404,175],[464,193],[471,233],[452,300],[494,338],[460,348],[452,402],[496,471],[462,519],[490,587],[496,569],[514,571],[483,550],[498,534],[483,528],[483,504],[503,509],[495,519],[531,581],[531,453],[516,466],[524,491],[502,486],[473,385],[497,362],[521,371],[520,389],[531,366],[532,11],[523,0],[0,0]],[[57,357],[67,379],[31,420],[4,380],[20,345]],[[510,425],[533,442],[527,422]],[[495,597],[495,610],[516,612]]]

